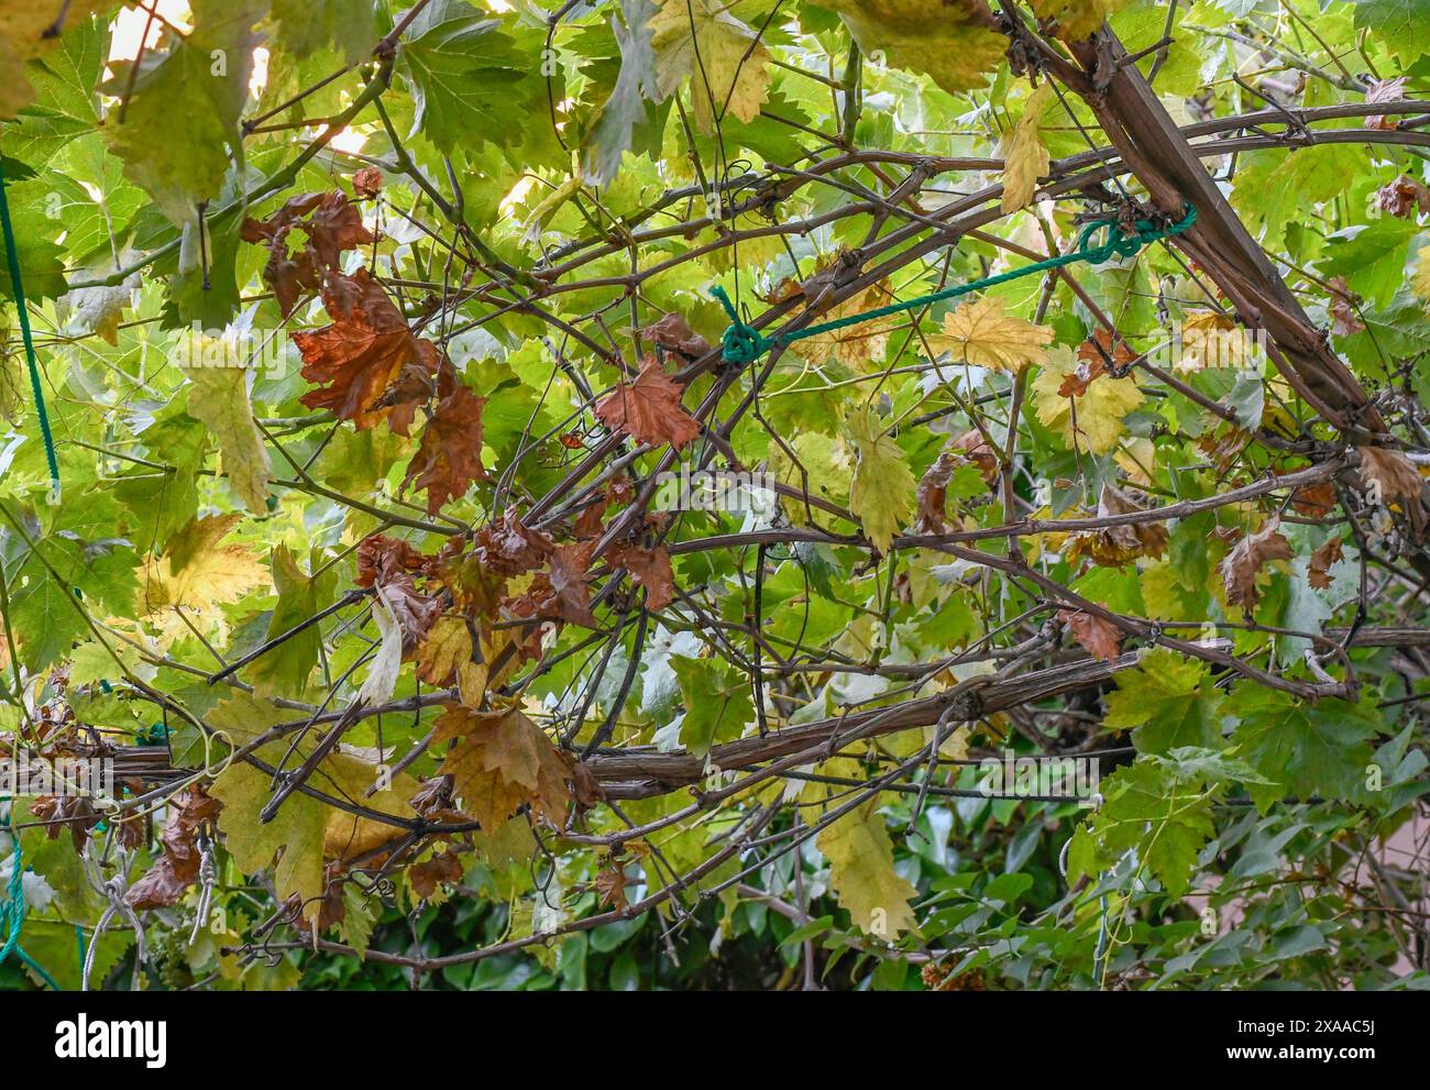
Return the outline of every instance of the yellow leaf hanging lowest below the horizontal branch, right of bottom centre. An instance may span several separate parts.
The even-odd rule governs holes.
[[[915,927],[908,903],[918,890],[894,870],[894,844],[878,798],[824,830],[815,847],[829,860],[829,885],[861,931],[892,940]]]

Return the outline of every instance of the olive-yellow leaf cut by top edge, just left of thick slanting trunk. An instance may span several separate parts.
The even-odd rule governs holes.
[[[982,0],[819,0],[838,11],[859,49],[931,76],[945,92],[982,87],[1008,39]]]

